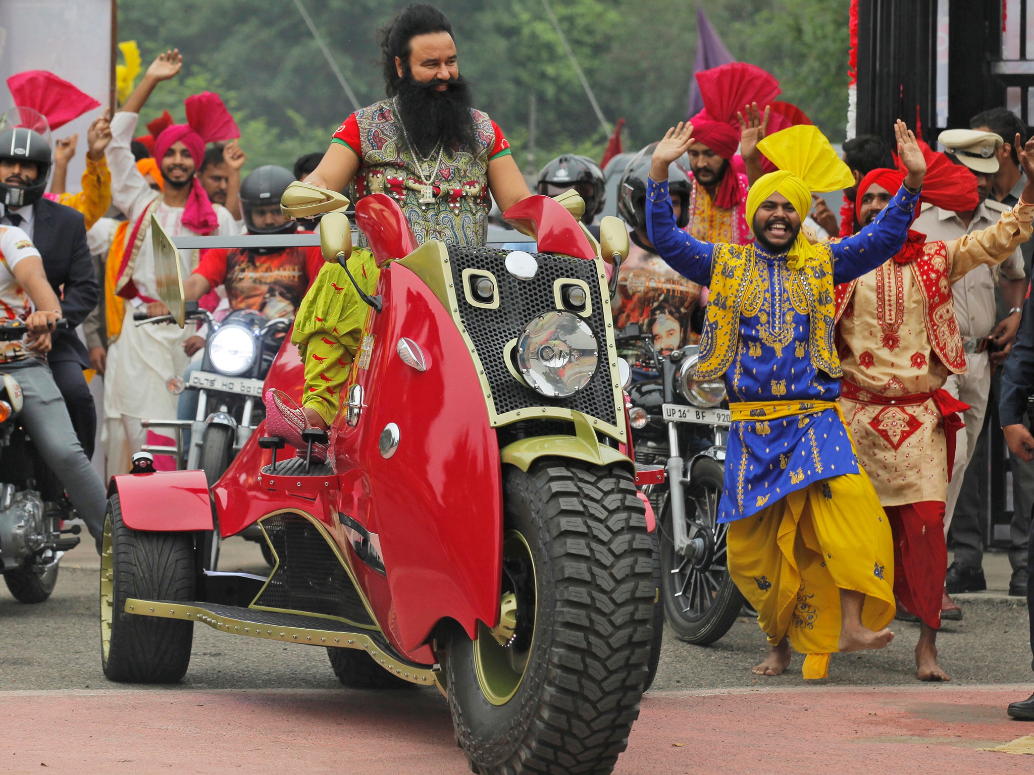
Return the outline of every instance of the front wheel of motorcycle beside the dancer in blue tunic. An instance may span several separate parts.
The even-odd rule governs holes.
[[[661,597],[672,630],[682,641],[707,646],[729,631],[743,605],[729,576],[726,534],[718,524],[725,471],[717,460],[705,458],[693,467],[686,488],[687,530],[692,555],[676,555],[672,541],[671,503],[661,520]]]

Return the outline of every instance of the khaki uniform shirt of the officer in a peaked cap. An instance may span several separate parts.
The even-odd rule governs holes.
[[[1009,207],[994,199],[981,203],[970,221],[969,227],[950,210],[926,208],[912,226],[916,231],[926,235],[926,241],[954,240],[968,234],[973,234],[998,222],[1002,213]],[[1002,262],[1002,274],[1010,280],[1024,279],[1024,258],[1020,247]],[[962,280],[951,286],[951,295],[955,301],[955,318],[959,320],[959,331],[963,341],[976,338],[982,339],[991,334],[997,322],[995,309],[995,285],[998,283],[998,273],[990,266],[980,266],[965,275]]]

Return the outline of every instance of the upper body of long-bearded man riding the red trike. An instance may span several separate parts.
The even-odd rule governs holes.
[[[433,5],[410,5],[381,48],[388,99],[352,114],[305,182],[389,194],[420,244],[483,245],[489,191],[504,212],[531,192],[503,131],[470,107],[449,19]]]

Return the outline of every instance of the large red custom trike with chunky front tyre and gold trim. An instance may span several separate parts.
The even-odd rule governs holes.
[[[302,184],[283,200],[297,216],[346,204]],[[544,196],[506,218],[538,253],[418,246],[391,198],[359,202],[383,271],[327,463],[261,427],[211,489],[146,456],[112,481],[110,679],[179,680],[201,622],[325,646],[347,686],[437,686],[476,772],[611,771],[647,682],[657,589],[601,259],[628,235],[611,219],[601,249]],[[179,264],[152,230],[182,322]],[[321,230],[343,260],[344,214]],[[266,389],[300,399],[302,371],[285,344]],[[268,578],[204,569],[206,534],[253,524]]]

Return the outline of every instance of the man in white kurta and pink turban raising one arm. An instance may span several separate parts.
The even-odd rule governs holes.
[[[166,311],[158,301],[154,253],[148,234],[152,215],[171,237],[239,233],[234,216],[209,200],[195,175],[205,158],[206,143],[240,135],[217,95],[206,92],[187,98],[188,123],[169,126],[155,138],[154,158],[162,179],[160,191],[151,188],[130,150],[139,113],[147,98],[155,86],[180,71],[182,62],[177,51],[155,59],[112,119],[112,142],[108,147],[112,203],[125,214],[127,225],[123,240],[112,248],[108,275],[118,297],[113,302],[122,306],[123,317],[131,316],[138,308],[151,315]],[[197,260],[196,250],[180,251],[184,277],[197,267]],[[128,471],[132,454],[147,443],[142,420],[176,416],[176,396],[165,390],[165,380],[186,369],[190,358],[184,344],[194,333],[192,327],[136,328],[130,317],[121,327],[118,338],[109,342],[104,373],[109,475]]]

